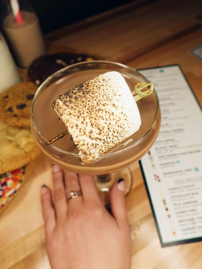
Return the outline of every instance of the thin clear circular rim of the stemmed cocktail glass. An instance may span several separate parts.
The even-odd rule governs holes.
[[[34,95],[34,98],[32,100],[32,105],[31,105],[31,121],[33,122],[34,124],[34,129],[36,130],[38,136],[45,142],[47,142],[47,139],[41,134],[41,132],[38,130],[37,126],[36,126],[36,122],[34,120],[34,113],[33,113],[33,110],[34,110],[34,104],[35,104],[35,99],[38,95],[38,93],[44,88],[44,86],[46,86],[46,84],[54,77],[56,77],[59,73],[63,73],[64,71],[68,70],[68,69],[71,69],[71,68],[74,68],[76,66],[82,66],[82,65],[86,65],[86,64],[89,64],[89,65],[92,65],[92,64],[109,64],[109,65],[114,65],[114,66],[119,66],[119,67],[123,67],[123,68],[126,68],[128,70],[131,70],[132,72],[136,72],[138,73],[141,77],[143,77],[147,82],[150,82],[147,77],[145,77],[142,73],[140,73],[139,71],[137,71],[136,69],[134,68],[131,68],[129,66],[126,66],[124,64],[120,64],[120,63],[116,63],[114,61],[105,61],[105,60],[93,60],[93,61],[82,61],[80,63],[77,63],[77,64],[73,64],[73,65],[70,65],[70,66],[67,66],[67,67],[64,67],[62,69],[59,69],[58,71],[56,71],[55,73],[53,73],[52,75],[50,75],[48,78],[46,78],[46,80],[44,80],[44,82],[38,87],[35,95]],[[78,71],[79,72],[79,71]],[[76,72],[75,72],[76,73]],[[99,154],[97,156],[97,158],[94,160],[96,161],[98,158],[105,158],[105,157],[111,157],[111,156],[114,156],[114,155],[118,155],[122,152],[125,152],[125,151],[128,151],[130,150],[131,148],[137,146],[137,144],[139,144],[143,139],[146,138],[146,136],[155,128],[156,126],[156,121],[157,121],[157,117],[158,117],[158,113],[159,113],[159,100],[158,100],[158,96],[157,96],[157,93],[156,93],[156,90],[155,88],[153,89],[153,94],[154,94],[154,97],[155,97],[155,101],[156,101],[156,113],[155,113],[155,116],[154,116],[154,119],[153,119],[153,122],[151,124],[151,126],[149,127],[149,129],[147,130],[147,132],[142,136],[140,137],[138,140],[136,140],[134,143],[132,143],[130,146],[128,146],[127,148],[125,149],[122,149],[122,150],[118,150],[116,152],[110,152],[110,153],[102,153],[102,154]],[[59,149],[57,147],[55,147],[53,144],[50,144],[48,145],[47,147],[52,147],[54,150],[56,150],[57,152],[59,153],[62,153],[62,154],[65,154],[65,155],[72,155],[74,157],[77,157],[77,158],[88,158],[88,155],[84,155],[84,154],[76,154],[76,153],[72,153],[72,152],[68,152],[68,151],[65,151],[65,150],[62,150],[62,149]],[[111,148],[113,149],[113,148]],[[110,150],[111,150],[110,149]],[[89,155],[90,157],[90,155]],[[92,163],[94,161],[91,161],[89,163]]]

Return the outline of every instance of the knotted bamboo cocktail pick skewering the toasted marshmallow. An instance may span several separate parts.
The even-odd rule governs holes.
[[[142,92],[142,90],[146,87],[148,87],[148,90],[145,92]],[[133,96],[133,98],[135,99],[135,101],[138,101],[138,100],[150,95],[153,92],[153,89],[154,89],[154,86],[151,82],[148,82],[148,83],[140,82],[140,83],[135,85],[134,91],[132,91],[131,93],[132,93],[132,95],[134,95],[136,93],[136,95]],[[45,143],[45,145],[52,144],[53,142],[57,141],[58,139],[63,138],[66,134],[69,134],[68,130],[66,130],[62,134],[55,136],[51,140],[47,141]]]

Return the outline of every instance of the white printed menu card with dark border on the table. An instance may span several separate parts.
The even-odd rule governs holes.
[[[161,246],[202,240],[202,113],[178,65],[138,70],[154,84],[159,135],[140,160]]]

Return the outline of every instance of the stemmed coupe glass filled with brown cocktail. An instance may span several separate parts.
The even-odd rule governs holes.
[[[160,108],[155,89],[152,94],[137,101],[142,125],[139,130],[92,162],[82,162],[71,135],[67,134],[53,144],[45,145],[67,129],[52,108],[58,95],[100,74],[117,71],[125,78],[131,92],[140,82],[150,82],[138,71],[110,61],[86,61],[61,69],[47,78],[38,88],[31,108],[31,130],[41,151],[53,163],[77,174],[93,175],[104,204],[110,204],[110,190],[118,179],[126,184],[125,195],[131,188],[129,166],[142,158],[152,147],[160,128]],[[145,89],[147,90],[147,88]]]

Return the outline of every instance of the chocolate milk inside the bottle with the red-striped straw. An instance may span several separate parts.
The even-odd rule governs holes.
[[[34,13],[22,12],[24,22],[16,24],[12,14],[3,22],[3,29],[9,40],[17,64],[28,68],[37,57],[46,54],[44,38]]]

